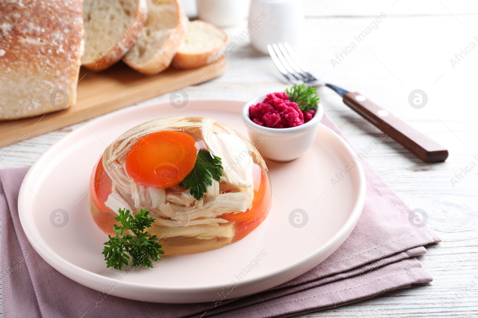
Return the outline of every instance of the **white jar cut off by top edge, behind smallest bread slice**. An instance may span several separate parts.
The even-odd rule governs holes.
[[[246,19],[250,0],[197,0],[197,17],[223,28]]]

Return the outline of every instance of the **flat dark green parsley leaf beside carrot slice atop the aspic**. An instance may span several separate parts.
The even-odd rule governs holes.
[[[207,191],[206,186],[212,185],[212,179],[219,181],[223,169],[221,158],[201,149],[197,153],[193,171],[179,185],[189,189],[189,193],[199,201]]]

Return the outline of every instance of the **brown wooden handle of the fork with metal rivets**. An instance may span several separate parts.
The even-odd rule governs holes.
[[[344,94],[344,103],[363,118],[395,139],[424,162],[441,162],[448,157],[448,150],[412,128],[379,105],[358,92]]]

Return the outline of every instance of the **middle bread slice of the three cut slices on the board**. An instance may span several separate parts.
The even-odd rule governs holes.
[[[148,19],[123,62],[147,75],[166,69],[183,40],[187,17],[177,0],[147,0]]]

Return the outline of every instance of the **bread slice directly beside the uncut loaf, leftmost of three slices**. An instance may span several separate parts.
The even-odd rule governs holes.
[[[101,71],[120,61],[136,42],[146,18],[146,0],[84,0],[83,66]]]

